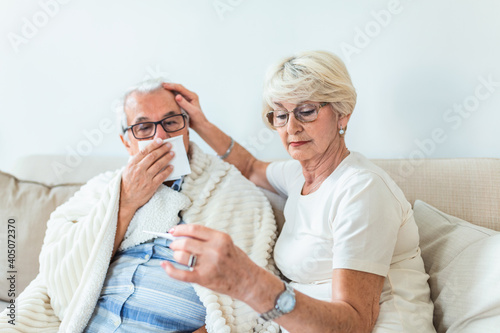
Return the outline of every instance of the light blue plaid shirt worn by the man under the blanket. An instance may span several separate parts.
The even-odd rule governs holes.
[[[193,286],[160,266],[175,263],[169,244],[156,238],[116,253],[84,332],[192,332],[205,324],[206,309]]]

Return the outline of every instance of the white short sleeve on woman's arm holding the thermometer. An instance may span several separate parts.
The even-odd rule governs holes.
[[[399,201],[385,181],[369,171],[350,176],[338,196],[333,269],[386,276],[403,220]]]

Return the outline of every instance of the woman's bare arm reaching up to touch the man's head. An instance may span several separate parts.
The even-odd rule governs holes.
[[[231,138],[208,121],[201,110],[198,95],[180,84],[164,83],[163,87],[178,93],[175,100],[189,114],[189,126],[215,150],[217,155],[223,156],[231,145]],[[237,142],[234,142],[231,153],[224,160],[236,166],[243,176],[255,185],[276,192],[266,176],[269,163],[256,159]]]

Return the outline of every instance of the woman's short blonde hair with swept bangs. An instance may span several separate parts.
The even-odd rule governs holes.
[[[342,60],[326,51],[306,51],[271,67],[264,81],[263,117],[277,102],[328,102],[341,117],[352,113],[356,90]],[[267,121],[266,121],[267,123]]]

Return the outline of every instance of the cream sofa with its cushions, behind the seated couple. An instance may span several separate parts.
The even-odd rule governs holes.
[[[0,172],[0,240],[7,244],[10,222],[16,228],[16,295],[38,272],[50,213],[88,179],[126,162],[126,156],[93,156],[69,165],[66,156],[29,156],[15,163],[12,174]],[[500,159],[374,162],[414,204],[437,331],[500,332]],[[266,195],[282,224],[284,198]],[[0,267],[11,271],[2,247]],[[2,309],[12,298],[9,289],[2,278]]]

